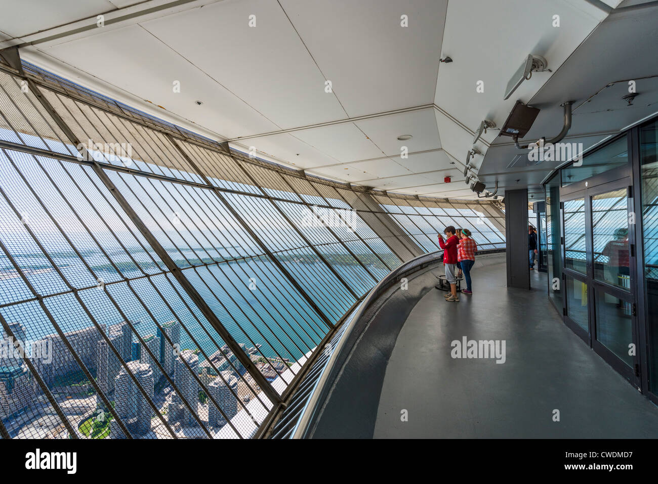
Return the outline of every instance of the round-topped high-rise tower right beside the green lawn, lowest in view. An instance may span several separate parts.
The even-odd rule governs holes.
[[[144,435],[151,429],[153,409],[128,372],[132,372],[149,399],[152,399],[153,371],[150,365],[137,361],[128,362],[126,367],[127,370],[122,368],[114,380],[114,414],[121,419],[130,433]],[[110,425],[110,436],[113,439],[125,438],[115,422],[111,422]]]

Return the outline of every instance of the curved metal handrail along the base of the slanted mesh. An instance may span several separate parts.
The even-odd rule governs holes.
[[[345,345],[345,341],[347,341],[349,335],[353,331],[355,331],[355,328],[359,326],[359,323],[361,322],[360,321],[361,317],[363,316],[363,314],[365,314],[366,310],[370,307],[370,305],[374,301],[376,301],[376,299],[378,299],[378,297],[384,291],[386,291],[389,287],[391,287],[393,283],[399,282],[401,278],[403,278],[408,274],[411,274],[411,272],[415,272],[421,266],[424,266],[426,264],[431,264],[432,262],[438,262],[442,259],[443,259],[442,250],[417,256],[397,266],[397,268],[393,269],[388,275],[384,276],[384,278],[382,278],[377,283],[377,285],[370,290],[367,297],[365,297],[365,299],[363,300],[361,306],[359,306],[354,316],[351,318],[351,322],[349,322],[351,327],[345,329],[345,331],[343,332],[342,337],[340,338],[338,343],[336,343],[336,347],[332,351],[330,358],[328,358],[326,365],[322,369],[322,374],[320,375],[315,385],[313,386],[313,390],[311,391],[311,396],[307,400],[301,412],[301,417],[299,417],[299,420],[297,421],[297,425],[295,426],[295,429],[293,431],[293,435],[292,435],[293,439],[301,439],[305,437],[305,434],[309,429],[309,425],[312,422],[313,417],[317,415],[318,404],[320,403],[320,401],[322,401],[321,397],[324,397],[328,391],[326,383],[328,382],[328,379],[332,374],[332,370],[336,368],[338,360],[341,358],[341,356],[343,356],[342,358],[343,360],[345,359],[344,356],[346,355],[342,355],[342,349]]]

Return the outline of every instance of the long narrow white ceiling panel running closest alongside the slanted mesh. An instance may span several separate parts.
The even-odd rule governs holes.
[[[139,25],[55,45],[46,53],[225,137],[277,129]],[[180,92],[174,92],[175,81]]]

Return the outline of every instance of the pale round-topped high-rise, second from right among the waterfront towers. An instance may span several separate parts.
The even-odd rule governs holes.
[[[188,365],[190,368],[188,368]],[[197,383],[192,372],[194,374],[199,373],[199,357],[191,350],[183,351],[174,362],[174,383],[178,388],[178,392],[172,395],[172,404],[169,406],[168,418],[170,423],[176,421],[180,421],[183,425],[196,425],[197,423],[182,401],[182,399],[187,400],[191,408],[198,411],[199,383]]]

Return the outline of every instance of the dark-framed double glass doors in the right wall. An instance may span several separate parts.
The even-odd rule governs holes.
[[[630,180],[563,199],[565,322],[639,387]]]

